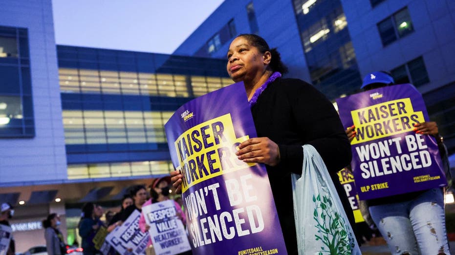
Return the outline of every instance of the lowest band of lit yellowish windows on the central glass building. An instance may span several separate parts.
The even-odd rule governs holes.
[[[173,171],[171,161],[133,161],[68,165],[68,179],[165,175]]]

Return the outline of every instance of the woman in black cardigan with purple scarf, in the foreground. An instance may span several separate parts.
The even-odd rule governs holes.
[[[258,137],[242,142],[238,159],[266,165],[288,254],[298,254],[291,174],[302,174],[304,144],[323,158],[354,226],[352,210],[337,172],[351,160],[350,145],[332,103],[311,84],[281,78],[287,68],[276,49],[257,35],[235,38],[227,53],[227,72],[243,81]],[[172,172],[180,192],[181,175]]]

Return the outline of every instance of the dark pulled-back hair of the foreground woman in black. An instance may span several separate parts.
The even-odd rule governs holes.
[[[281,55],[278,52],[277,48],[270,49],[265,39],[255,34],[241,34],[238,37],[246,39],[251,45],[258,48],[260,53],[265,53],[266,51],[270,52],[272,55],[272,59],[270,59],[269,64],[270,69],[272,69],[273,72],[287,74],[287,67],[283,64]]]

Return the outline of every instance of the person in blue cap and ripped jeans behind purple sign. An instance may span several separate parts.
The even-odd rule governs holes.
[[[373,72],[365,76],[361,89],[393,85],[387,72]],[[414,125],[414,132],[436,138],[449,183],[451,182],[447,149],[439,136],[436,122]],[[346,130],[349,141],[356,135],[355,126]],[[444,197],[440,188],[410,192],[402,195],[368,199],[369,213],[387,241],[392,254],[450,254],[447,241]]]

